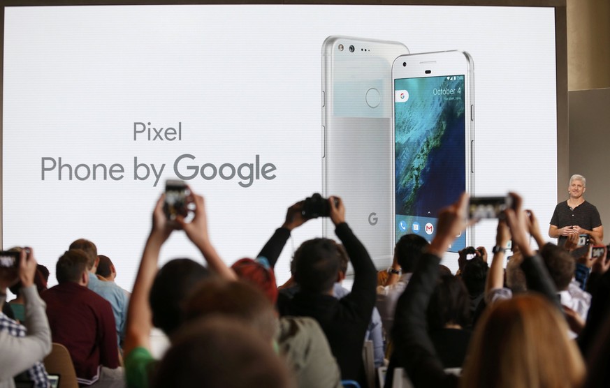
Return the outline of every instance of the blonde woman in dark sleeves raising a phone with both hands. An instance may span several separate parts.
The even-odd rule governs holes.
[[[583,383],[583,361],[567,337],[555,288],[541,258],[529,246],[521,197],[511,196],[514,210],[505,214],[512,241],[523,253],[528,290],[542,297],[528,294],[488,308],[474,331],[461,382],[444,373],[427,333],[425,311],[440,258],[465,227],[464,194],[441,212],[435,238],[398,299],[393,338],[403,364],[397,366],[405,368],[415,387],[579,387]],[[388,378],[386,387],[391,383]]]

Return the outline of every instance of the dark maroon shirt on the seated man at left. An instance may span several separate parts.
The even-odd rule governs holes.
[[[70,352],[78,382],[91,385],[100,366],[119,366],[115,316],[110,303],[74,282],[56,285],[41,294],[53,342]]]

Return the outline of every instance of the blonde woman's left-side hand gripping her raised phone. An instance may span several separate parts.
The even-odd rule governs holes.
[[[443,209],[438,216],[436,235],[428,246],[428,253],[442,258],[449,245],[456,236],[467,227],[466,207],[468,205],[467,193],[462,193],[460,199],[451,206]]]

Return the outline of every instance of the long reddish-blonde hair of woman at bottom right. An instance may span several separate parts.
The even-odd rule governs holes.
[[[499,301],[474,331],[460,387],[581,387],[585,366],[549,301],[523,294]]]

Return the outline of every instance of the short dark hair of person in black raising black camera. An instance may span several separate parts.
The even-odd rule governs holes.
[[[301,244],[291,262],[294,280],[302,290],[327,292],[333,288],[341,267],[341,253],[331,239],[317,238]]]

